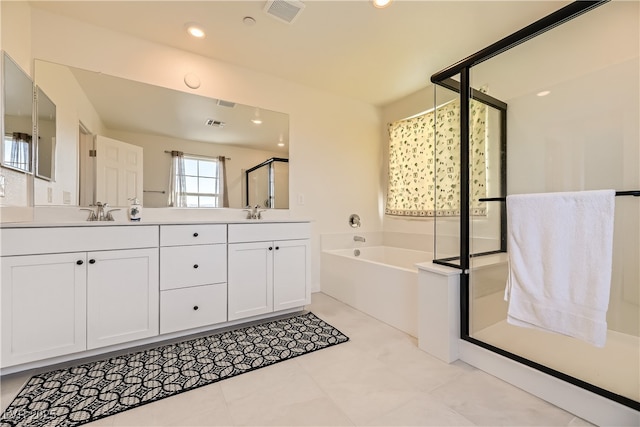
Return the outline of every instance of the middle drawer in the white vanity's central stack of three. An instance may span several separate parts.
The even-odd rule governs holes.
[[[226,245],[160,248],[160,289],[210,285],[226,281]]]

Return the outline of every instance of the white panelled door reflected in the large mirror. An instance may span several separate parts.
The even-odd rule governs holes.
[[[96,202],[127,206],[142,200],[142,147],[96,137]]]

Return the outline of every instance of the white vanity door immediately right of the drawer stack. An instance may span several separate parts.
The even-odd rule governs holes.
[[[229,245],[229,320],[273,311],[273,243]]]

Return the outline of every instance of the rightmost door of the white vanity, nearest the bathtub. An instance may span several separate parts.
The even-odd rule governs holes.
[[[274,242],[273,310],[310,304],[309,240]]]

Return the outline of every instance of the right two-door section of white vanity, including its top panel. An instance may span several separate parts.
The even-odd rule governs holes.
[[[309,223],[229,224],[229,320],[310,303]]]

